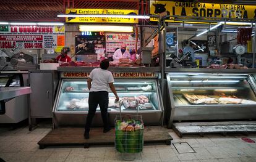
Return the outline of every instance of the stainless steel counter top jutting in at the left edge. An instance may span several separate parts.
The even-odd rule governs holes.
[[[0,100],[11,99],[31,92],[30,87],[0,87]]]

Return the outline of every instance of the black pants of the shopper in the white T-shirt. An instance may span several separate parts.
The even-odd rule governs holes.
[[[85,124],[85,131],[90,131],[93,116],[95,115],[96,108],[100,105],[101,118],[104,124],[104,130],[109,129],[108,125],[108,92],[89,92],[89,111]]]

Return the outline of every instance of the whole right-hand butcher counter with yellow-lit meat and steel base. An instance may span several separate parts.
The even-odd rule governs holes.
[[[169,69],[166,78],[170,128],[173,121],[256,118],[256,70]]]

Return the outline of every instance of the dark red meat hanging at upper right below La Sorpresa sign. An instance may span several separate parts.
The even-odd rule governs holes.
[[[252,39],[252,28],[238,28],[237,29],[237,43],[246,45],[247,41]]]

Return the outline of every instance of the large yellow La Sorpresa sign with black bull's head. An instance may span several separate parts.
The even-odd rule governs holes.
[[[256,6],[150,0],[150,14],[158,15],[165,11],[169,15],[189,17],[256,18]],[[150,18],[150,21],[157,21],[157,18]]]

